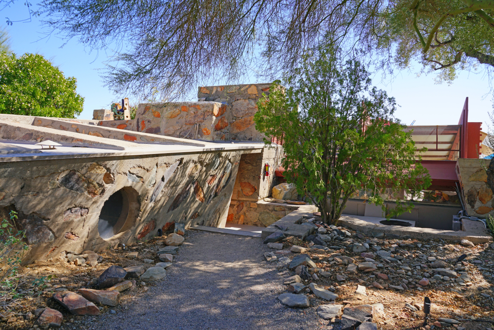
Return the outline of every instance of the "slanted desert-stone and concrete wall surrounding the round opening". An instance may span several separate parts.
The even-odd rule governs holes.
[[[19,212],[25,262],[155,236],[169,222],[224,227],[242,153],[89,157],[0,162],[0,209]],[[104,202],[135,190],[135,223],[109,239],[98,233]]]

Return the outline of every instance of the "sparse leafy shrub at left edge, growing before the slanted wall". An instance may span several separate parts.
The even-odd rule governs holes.
[[[17,231],[15,223],[17,213],[10,212],[10,222],[3,219],[0,224],[0,295],[12,293],[17,286],[17,269],[24,253],[28,250],[22,240],[23,231]]]

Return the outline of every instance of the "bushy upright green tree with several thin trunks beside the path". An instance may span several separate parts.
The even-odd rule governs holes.
[[[283,137],[287,180],[312,199],[325,222],[339,219],[356,190],[384,205],[384,189],[416,195],[430,186],[410,133],[393,118],[394,98],[371,87],[357,60],[340,63],[323,52],[307,58],[286,83],[285,90],[276,81],[269,98],[258,101],[255,127]],[[411,208],[398,199],[388,214]]]

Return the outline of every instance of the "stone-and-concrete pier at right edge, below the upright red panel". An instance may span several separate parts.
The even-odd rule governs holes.
[[[493,191],[487,185],[487,173],[482,163],[489,166],[490,159],[460,158],[456,162],[456,175],[463,189],[463,200],[469,216],[494,216]]]

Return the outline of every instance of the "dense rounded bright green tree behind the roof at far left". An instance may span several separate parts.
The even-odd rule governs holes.
[[[76,78],[65,78],[40,54],[0,54],[0,113],[75,118],[84,98]]]

